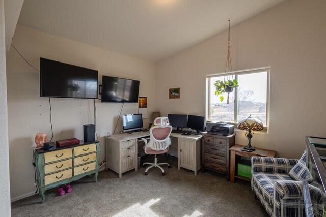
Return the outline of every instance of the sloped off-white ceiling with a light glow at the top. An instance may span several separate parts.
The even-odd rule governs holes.
[[[18,24],[157,62],[284,0],[24,0]]]

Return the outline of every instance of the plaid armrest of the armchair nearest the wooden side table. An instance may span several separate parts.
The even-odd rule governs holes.
[[[251,158],[251,172],[289,173],[296,159],[257,157]]]

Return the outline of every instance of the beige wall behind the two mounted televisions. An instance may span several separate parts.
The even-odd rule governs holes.
[[[140,80],[139,96],[148,98],[148,114],[151,115],[155,96],[155,65],[148,61],[100,49],[44,32],[17,26],[12,44],[35,68],[39,58],[45,57],[65,63],[96,69],[101,82],[102,75]],[[51,138],[48,98],[40,97],[39,72],[28,66],[11,48],[7,54],[8,118],[10,149],[11,198],[19,199],[35,191],[32,166],[34,137],[44,132]],[[117,123],[122,104],[100,103],[96,100],[96,130],[104,160],[104,139]],[[94,123],[93,100],[51,98],[53,141],[83,139],[83,125]],[[125,103],[122,114],[138,113],[137,103]],[[144,119],[148,126],[150,119]],[[122,130],[122,121],[116,133]]]

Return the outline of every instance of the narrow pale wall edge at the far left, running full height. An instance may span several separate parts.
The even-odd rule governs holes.
[[[8,110],[4,1],[0,0],[0,212],[10,216]]]

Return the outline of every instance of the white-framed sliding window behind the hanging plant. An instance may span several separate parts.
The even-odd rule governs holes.
[[[227,93],[223,94],[223,102],[215,95],[214,83],[224,80],[224,75],[207,75],[207,119],[237,123],[251,115],[260,119],[267,129],[269,68],[233,72],[239,87],[229,94],[230,104],[226,103]]]

